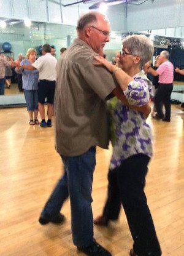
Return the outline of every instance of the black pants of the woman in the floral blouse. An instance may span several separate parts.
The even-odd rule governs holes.
[[[110,191],[103,214],[107,219],[118,218],[121,202],[134,241],[134,252],[139,256],[160,256],[161,249],[144,193],[149,161],[145,154],[136,154],[109,171]]]

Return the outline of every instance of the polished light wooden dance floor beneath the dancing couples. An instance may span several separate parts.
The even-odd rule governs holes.
[[[81,255],[72,244],[69,200],[66,222],[38,223],[40,211],[61,175],[54,129],[29,126],[26,108],[0,110],[0,255]],[[171,122],[148,118],[155,133],[146,193],[163,256],[184,255],[184,113],[172,106]],[[93,182],[93,215],[101,214],[107,192],[110,150],[97,149]],[[132,247],[125,214],[109,228],[94,226],[94,237],[113,256],[128,256]]]

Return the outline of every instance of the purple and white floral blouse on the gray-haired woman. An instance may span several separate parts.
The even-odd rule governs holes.
[[[152,97],[151,92],[152,84],[142,70],[134,76],[134,81],[128,84],[124,94],[131,105],[143,106]],[[120,166],[121,161],[134,154],[142,153],[151,158],[153,138],[144,114],[132,110],[117,100],[113,121],[115,122],[115,145],[113,146],[110,169]]]

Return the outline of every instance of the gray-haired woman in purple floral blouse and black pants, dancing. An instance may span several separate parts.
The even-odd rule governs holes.
[[[130,105],[148,103],[151,82],[145,76],[145,63],[153,55],[153,43],[143,35],[128,36],[118,54],[118,66],[102,57],[96,65],[104,65],[113,73]],[[160,256],[161,249],[144,193],[147,166],[152,156],[152,136],[144,114],[124,105],[119,100],[113,112],[115,144],[110,161],[109,198],[97,225],[107,225],[118,218],[120,203],[134,241],[131,256]]]

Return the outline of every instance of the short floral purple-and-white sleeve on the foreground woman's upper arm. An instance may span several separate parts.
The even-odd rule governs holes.
[[[144,106],[150,100],[150,90],[148,81],[145,79],[134,79],[128,84],[124,94],[128,103],[135,106]],[[150,82],[151,83],[151,82]]]

